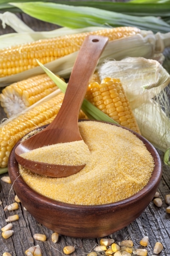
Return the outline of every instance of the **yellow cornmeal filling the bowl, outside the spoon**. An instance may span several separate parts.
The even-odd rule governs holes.
[[[79,122],[79,131],[91,151],[86,166],[64,178],[44,177],[20,167],[28,186],[54,200],[95,205],[125,199],[148,183],[153,157],[133,133],[94,121]]]

